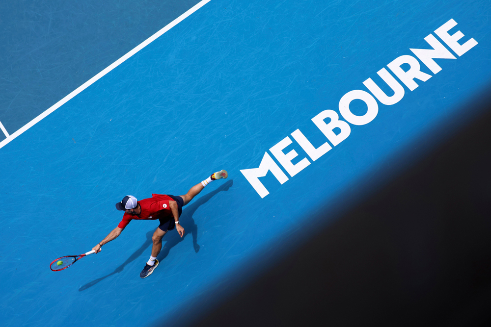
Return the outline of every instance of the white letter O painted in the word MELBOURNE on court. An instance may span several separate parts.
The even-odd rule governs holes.
[[[361,100],[366,103],[368,111],[363,116],[356,116],[350,110],[350,103],[353,100]],[[341,100],[339,100],[339,112],[344,119],[353,125],[365,125],[370,123],[377,117],[379,113],[379,105],[377,100],[370,95],[370,93],[362,90],[353,90],[346,93]]]

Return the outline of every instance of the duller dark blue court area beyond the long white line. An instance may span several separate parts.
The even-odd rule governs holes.
[[[12,134],[197,2],[2,1],[0,122]]]

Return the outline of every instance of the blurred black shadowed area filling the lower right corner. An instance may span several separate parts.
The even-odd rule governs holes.
[[[267,260],[189,302],[171,325],[490,326],[491,92],[477,99],[462,112],[478,106],[480,117],[444,141],[449,133],[440,133],[425,156],[380,184],[382,167],[365,181],[375,190],[362,197],[353,188],[359,194],[340,206],[361,201],[333,223],[288,235],[304,242],[272,246]],[[269,268],[248,279],[260,266]]]

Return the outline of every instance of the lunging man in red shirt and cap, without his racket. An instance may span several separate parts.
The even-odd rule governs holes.
[[[179,217],[182,207],[188,204],[192,198],[198,195],[203,188],[213,180],[227,178],[226,171],[221,170],[212,176],[194,185],[185,195],[175,197],[173,195],[152,194],[149,199],[137,201],[134,196],[128,195],[121,202],[116,203],[116,209],[124,211],[123,220],[114,228],[104,240],[92,248],[96,253],[101,251],[101,247],[115,239],[121,234],[123,229],[134,219],[136,220],[159,220],[160,225],[155,230],[152,241],[152,255],[140,273],[141,278],[150,276],[154,269],[159,265],[157,255],[162,249],[162,237],[168,230],[177,229],[181,237],[184,236],[184,228],[179,224]]]

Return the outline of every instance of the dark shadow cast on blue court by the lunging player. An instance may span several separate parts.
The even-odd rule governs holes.
[[[175,247],[177,244],[181,243],[184,238],[186,238],[187,235],[191,234],[192,235],[192,246],[194,248],[194,252],[198,252],[200,249],[199,244],[197,243],[197,237],[198,237],[198,226],[194,223],[194,219],[192,215],[196,211],[197,208],[199,208],[200,205],[208,202],[213,196],[215,196],[218,192],[221,191],[228,191],[228,189],[234,184],[234,180],[231,179],[218,187],[215,191],[212,191],[208,193],[207,195],[204,195],[197,199],[196,201],[192,201],[191,204],[188,204],[187,206],[184,207],[183,213],[181,214],[181,217],[179,217],[179,221],[181,222],[181,225],[185,229],[185,233],[183,237],[179,237],[179,234],[175,229],[169,230],[165,235],[162,241],[165,241],[165,244],[162,245],[162,250],[158,255],[158,260],[162,261],[170,252],[170,249]],[[141,245],[141,247],[136,250],[128,259],[126,259],[125,262],[123,262],[119,267],[114,269],[114,271],[104,277],[97,278],[95,280],[92,280],[91,282],[86,283],[85,285],[82,285],[79,288],[79,292],[86,290],[89,287],[94,286],[101,280],[104,280],[108,278],[109,276],[112,276],[116,273],[121,273],[124,269],[124,267],[129,264],[132,261],[135,261],[136,258],[138,258],[143,252],[145,252],[151,245],[152,245],[152,236],[155,231],[155,228],[152,228],[146,233],[146,240],[145,243]],[[136,273],[135,273],[136,274]]]

